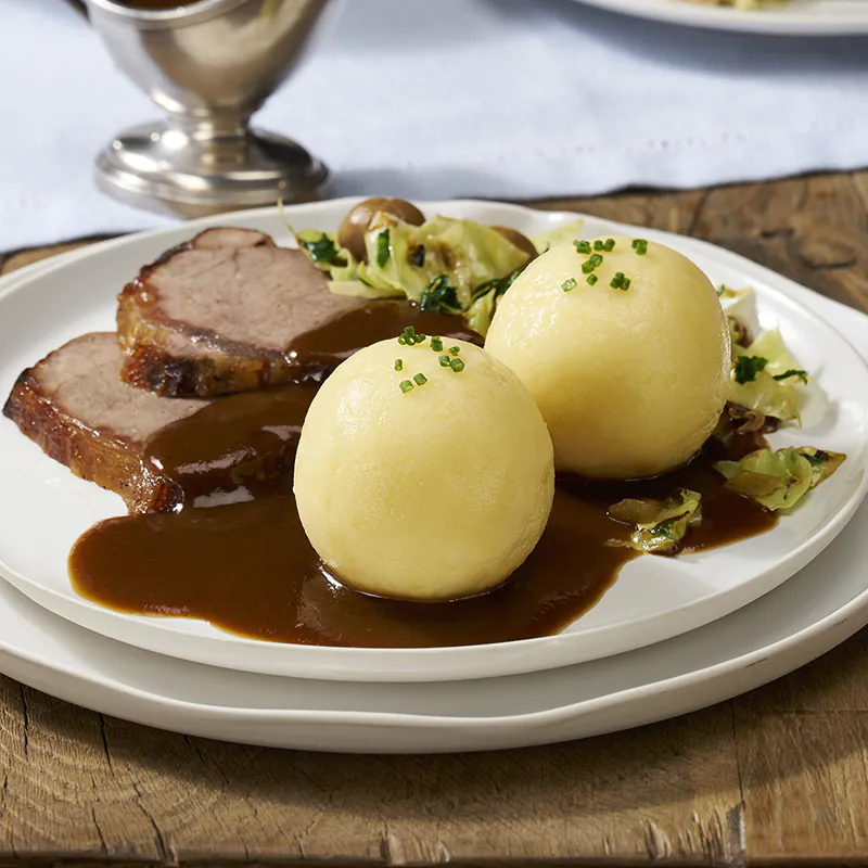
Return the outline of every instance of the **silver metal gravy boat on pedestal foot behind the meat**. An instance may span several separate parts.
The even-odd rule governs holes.
[[[290,74],[328,0],[199,0],[148,10],[87,0],[116,65],[167,113],[97,158],[102,190],[184,217],[314,199],[326,167],[251,115]]]

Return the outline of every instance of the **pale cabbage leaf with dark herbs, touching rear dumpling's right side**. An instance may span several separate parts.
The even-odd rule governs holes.
[[[778,329],[762,332],[749,346],[732,345],[729,400],[781,422],[799,421],[800,385],[807,374],[790,355]]]

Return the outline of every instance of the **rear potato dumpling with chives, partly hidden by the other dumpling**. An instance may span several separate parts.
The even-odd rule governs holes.
[[[485,348],[542,412],[559,471],[653,476],[685,463],[724,409],[729,332],[705,275],[630,238],[558,245],[500,299]]]

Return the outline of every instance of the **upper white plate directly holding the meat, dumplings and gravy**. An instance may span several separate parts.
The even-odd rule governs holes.
[[[350,203],[296,206],[288,216],[299,228],[333,229]],[[427,213],[514,226],[531,234],[575,218],[493,203],[420,204]],[[201,227],[218,224],[255,227],[289,243],[275,209],[245,212],[107,242],[8,282],[0,291],[0,394],[9,392],[22,369],[65,341],[111,329],[115,295],[142,264]],[[715,283],[753,286],[763,327],[779,326],[815,378],[818,388],[806,408],[805,427],[775,435],[776,445],[809,444],[844,451],[848,459],[770,533],[677,559],[639,558],[625,566],[597,607],[558,636],[411,650],[263,642],[202,621],[127,615],[79,598],[66,571],[69,548],[94,522],[123,513],[123,503],[74,477],[2,420],[0,573],[52,612],[151,651],[271,675],[365,681],[458,680],[564,666],[668,639],[755,600],[816,557],[865,497],[868,370],[840,333],[794,301],[793,284],[767,269],[691,239],[586,218],[584,234],[602,233],[656,238],[689,255]]]

